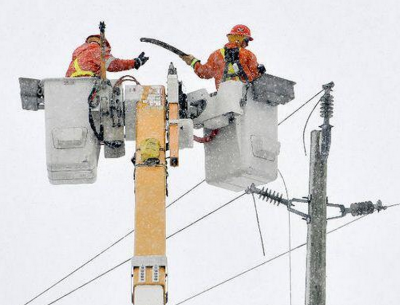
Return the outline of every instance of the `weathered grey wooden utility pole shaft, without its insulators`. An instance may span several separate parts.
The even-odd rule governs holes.
[[[325,305],[326,299],[326,177],[321,155],[321,131],[311,132],[310,203],[307,232],[306,305]]]

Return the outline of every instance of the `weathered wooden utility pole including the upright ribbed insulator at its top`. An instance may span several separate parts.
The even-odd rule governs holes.
[[[310,185],[308,204],[306,305],[325,305],[326,302],[326,178],[327,162],[331,146],[329,119],[333,115],[334,83],[323,85],[325,91],[320,99],[321,130],[311,132]]]

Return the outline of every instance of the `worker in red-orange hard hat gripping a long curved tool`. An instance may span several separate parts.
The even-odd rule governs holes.
[[[247,26],[235,25],[227,37],[229,42],[213,52],[204,65],[193,55],[181,56],[200,78],[214,78],[217,89],[221,82],[227,80],[252,82],[265,72],[264,66],[257,63],[256,56],[246,49],[253,40]]]

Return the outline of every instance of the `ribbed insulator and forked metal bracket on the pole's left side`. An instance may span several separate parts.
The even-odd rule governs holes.
[[[308,199],[298,199],[298,198],[292,198],[292,199],[284,199],[283,198],[283,194],[280,194],[278,192],[275,192],[273,190],[270,190],[268,188],[257,188],[255,186],[254,183],[252,183],[247,189],[246,189],[246,194],[257,194],[259,199],[262,199],[266,202],[268,202],[268,200],[270,201],[270,203],[273,203],[274,205],[280,205],[283,204],[286,206],[286,208],[288,209],[289,212],[292,212],[296,215],[301,216],[305,221],[307,221],[307,223],[310,222],[310,216],[306,213],[303,213],[299,210],[296,210],[294,208],[292,208],[293,206],[295,206],[293,204],[293,202],[299,202],[299,203],[309,203]]]

